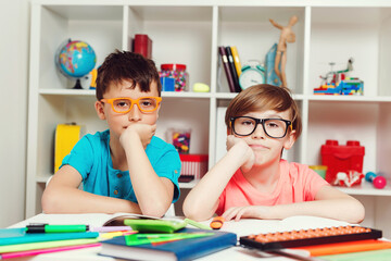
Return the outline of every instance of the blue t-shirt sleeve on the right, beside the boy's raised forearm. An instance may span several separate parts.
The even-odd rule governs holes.
[[[164,153],[160,157],[159,161],[153,165],[153,170],[160,177],[166,177],[174,184],[173,203],[179,199],[180,189],[178,178],[180,175],[180,158],[178,151],[172,145],[165,146]]]

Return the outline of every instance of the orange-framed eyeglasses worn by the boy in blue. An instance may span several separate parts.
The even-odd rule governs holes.
[[[162,97],[140,97],[136,100],[130,98],[113,98],[101,99],[100,101],[111,104],[113,111],[117,113],[129,112],[135,103],[141,112],[153,112],[157,110]]]

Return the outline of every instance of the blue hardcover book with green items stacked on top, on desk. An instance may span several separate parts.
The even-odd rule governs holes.
[[[125,235],[102,241],[101,256],[180,261],[193,260],[237,245],[237,235],[234,233],[189,228],[185,227],[186,222],[140,220],[136,223],[125,221],[125,224],[147,234]]]

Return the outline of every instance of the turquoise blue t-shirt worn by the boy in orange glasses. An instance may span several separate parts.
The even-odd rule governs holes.
[[[137,203],[129,171],[113,169],[109,141],[109,129],[94,135],[85,135],[63,159],[61,166],[72,165],[80,173],[85,191]],[[173,145],[153,136],[146,153],[157,176],[173,182],[173,202],[177,201],[180,194],[178,185],[180,159],[177,150]]]

